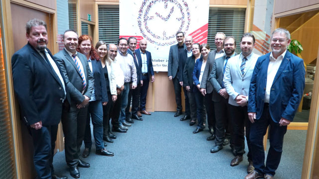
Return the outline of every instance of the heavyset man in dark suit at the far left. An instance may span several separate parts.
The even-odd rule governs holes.
[[[20,116],[33,140],[33,163],[39,179],[67,179],[53,170],[53,155],[63,102],[65,79],[59,65],[46,48],[46,23],[31,19],[26,23],[28,43],[11,59],[13,89]]]

